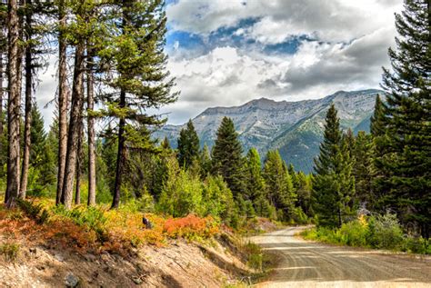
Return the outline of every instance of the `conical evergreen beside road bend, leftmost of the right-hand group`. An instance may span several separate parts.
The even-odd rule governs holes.
[[[355,179],[351,174],[353,162],[348,146],[348,136],[343,137],[336,107],[332,104],[326,113],[324,141],[315,160],[313,178],[314,210],[319,224],[341,226],[353,213]]]

